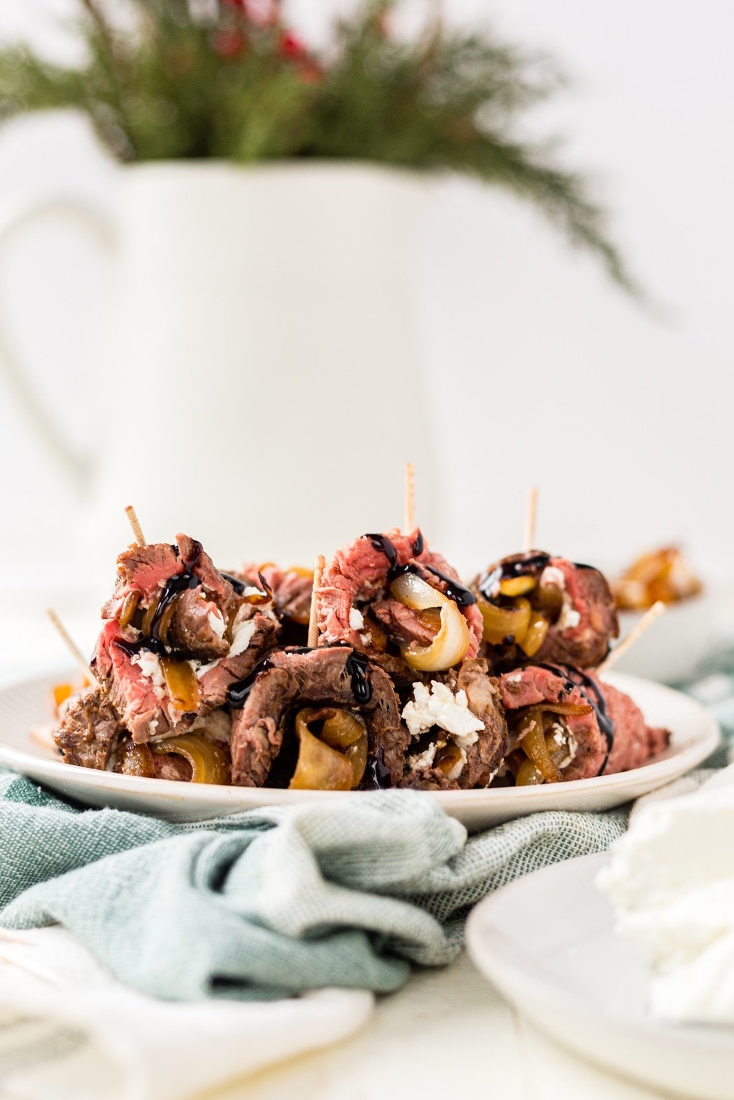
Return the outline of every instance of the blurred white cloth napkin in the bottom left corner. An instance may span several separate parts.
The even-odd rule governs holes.
[[[65,928],[0,930],[0,1094],[182,1100],[347,1038],[373,996],[160,1001],[118,982]]]

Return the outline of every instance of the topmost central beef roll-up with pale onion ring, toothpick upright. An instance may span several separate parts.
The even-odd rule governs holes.
[[[318,592],[319,642],[346,642],[397,683],[476,656],[482,616],[454,569],[416,528],[363,535],[337,550]]]

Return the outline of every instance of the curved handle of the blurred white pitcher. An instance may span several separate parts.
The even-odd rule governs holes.
[[[11,201],[0,208],[0,262],[4,246],[17,233],[33,222],[51,217],[74,221],[90,233],[105,251],[111,251],[114,242],[111,217],[84,198],[56,195]],[[52,457],[62,469],[66,470],[79,488],[85,488],[89,473],[88,462],[75,454],[53,414],[48,413],[39,400],[34,387],[29,382],[29,373],[8,337],[2,301],[0,301],[0,369]]]

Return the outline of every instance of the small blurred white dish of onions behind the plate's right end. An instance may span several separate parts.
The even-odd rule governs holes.
[[[689,680],[706,657],[715,637],[720,600],[711,592],[668,604],[666,613],[637,639],[616,668],[647,680]],[[620,638],[637,625],[644,612],[620,612]]]

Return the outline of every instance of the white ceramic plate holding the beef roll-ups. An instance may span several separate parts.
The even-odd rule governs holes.
[[[116,776],[64,763],[34,741],[29,730],[48,719],[51,684],[68,680],[41,676],[0,691],[0,765],[22,772],[67,798],[92,806],[117,806],[175,821],[198,821],[217,814],[274,804],[299,804],[315,798],[360,799],[359,791],[280,791],[251,787],[208,787],[160,779]],[[540,810],[609,810],[677,779],[700,763],[719,740],[719,727],[703,707],[679,692],[634,676],[610,675],[642,707],[649,724],[672,732],[670,747],[650,763],[620,776],[581,779],[573,783],[496,788],[485,791],[431,791],[428,796],[470,831],[487,828]]]

